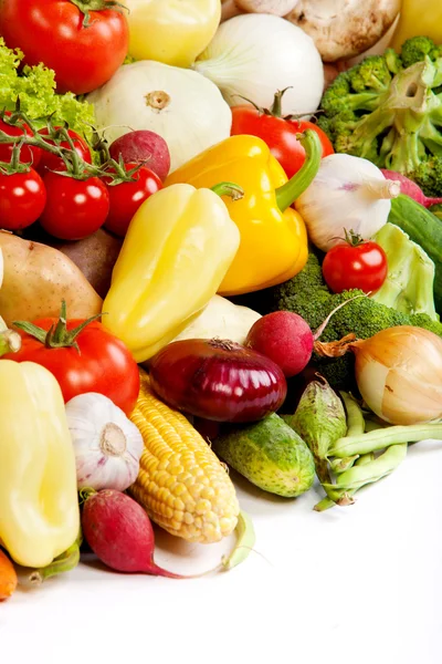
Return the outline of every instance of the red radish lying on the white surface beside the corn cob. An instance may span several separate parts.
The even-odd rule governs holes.
[[[94,553],[118,572],[144,572],[185,579],[154,562],[155,538],[150,519],[138,502],[110,489],[84,491],[83,536]]]

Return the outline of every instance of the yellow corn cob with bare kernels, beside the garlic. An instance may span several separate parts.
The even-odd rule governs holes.
[[[211,543],[233,532],[240,507],[224,467],[200,434],[178,411],[159,401],[148,375],[130,416],[145,449],[128,492],[171,535]]]

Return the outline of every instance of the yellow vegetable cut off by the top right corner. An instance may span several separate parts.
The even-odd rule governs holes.
[[[436,44],[442,44],[441,0],[402,0],[391,45],[400,51],[407,39],[420,35],[430,37]]]

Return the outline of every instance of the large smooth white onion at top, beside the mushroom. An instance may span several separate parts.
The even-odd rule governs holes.
[[[269,108],[278,90],[283,113],[312,115],[324,87],[324,68],[313,40],[301,28],[270,14],[243,14],[225,21],[193,69],[213,81],[231,106]]]

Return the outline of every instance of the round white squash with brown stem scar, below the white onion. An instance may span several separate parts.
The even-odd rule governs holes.
[[[192,70],[151,60],[125,64],[87,101],[109,143],[131,129],[159,134],[171,172],[230,136],[229,105],[214,83]]]

